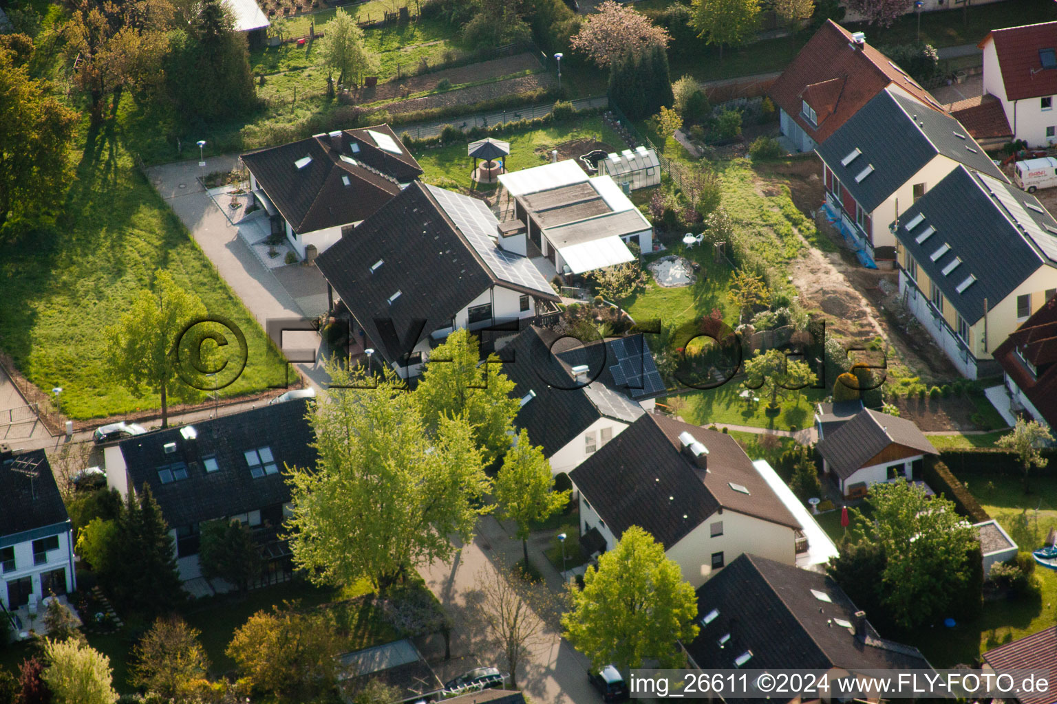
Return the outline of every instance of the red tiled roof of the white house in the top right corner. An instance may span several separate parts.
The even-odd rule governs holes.
[[[1057,47],[1057,22],[991,30],[980,42],[995,42],[1007,100],[1057,94],[1057,69],[1043,69],[1040,49]]]

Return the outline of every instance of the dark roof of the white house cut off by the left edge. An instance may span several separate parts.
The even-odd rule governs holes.
[[[29,474],[36,476],[32,479]],[[43,450],[0,462],[0,537],[69,520]]]

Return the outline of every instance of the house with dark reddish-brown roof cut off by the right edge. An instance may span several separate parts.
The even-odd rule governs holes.
[[[995,349],[1004,373],[1013,411],[1025,412],[1049,427],[1057,423],[1057,303],[1045,292],[1046,303],[1032,313]]]

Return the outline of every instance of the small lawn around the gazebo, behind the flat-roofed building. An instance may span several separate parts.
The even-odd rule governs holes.
[[[514,112],[512,110],[512,112]],[[456,121],[456,120],[453,120]],[[400,132],[400,128],[396,128]],[[540,166],[550,160],[551,150],[573,139],[599,139],[614,149],[625,149],[620,137],[602,125],[601,117],[589,115],[548,127],[517,134],[501,134],[498,137],[511,142],[511,154],[506,157],[508,171],[518,171]],[[444,188],[465,188],[494,190],[495,185],[477,185],[470,180],[474,159],[466,156],[465,142],[458,142],[439,149],[418,149],[414,157],[423,169],[423,180]]]

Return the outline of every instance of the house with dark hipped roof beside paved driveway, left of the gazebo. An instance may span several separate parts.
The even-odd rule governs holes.
[[[310,259],[422,175],[388,125],[317,134],[243,154],[242,163],[272,232]]]

